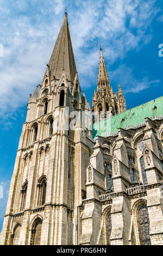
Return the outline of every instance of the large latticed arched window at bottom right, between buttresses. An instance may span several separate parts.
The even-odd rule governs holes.
[[[151,245],[149,235],[149,215],[146,205],[142,205],[139,209],[139,225],[142,245]]]

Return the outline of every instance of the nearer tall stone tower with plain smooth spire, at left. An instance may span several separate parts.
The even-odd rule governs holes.
[[[66,13],[39,86],[27,104],[2,245],[78,243],[78,206],[86,197],[86,136],[90,135],[86,119],[82,129],[82,111],[89,112],[90,106],[84,92],[80,96]]]

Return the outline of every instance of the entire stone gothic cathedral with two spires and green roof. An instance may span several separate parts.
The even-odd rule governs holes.
[[[1,245],[163,245],[163,96],[127,110],[99,56],[90,107],[65,13],[29,95]]]

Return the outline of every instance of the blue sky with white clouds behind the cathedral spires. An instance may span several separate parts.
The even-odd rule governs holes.
[[[41,83],[67,7],[80,86],[92,101],[99,45],[114,92],[127,108],[163,95],[162,0],[0,0],[0,231],[27,101]]]

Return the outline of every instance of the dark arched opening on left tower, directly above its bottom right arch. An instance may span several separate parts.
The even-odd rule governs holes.
[[[38,197],[37,197],[37,206],[45,204],[46,198],[46,176],[42,176],[37,184],[38,187]]]

